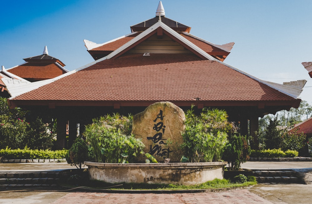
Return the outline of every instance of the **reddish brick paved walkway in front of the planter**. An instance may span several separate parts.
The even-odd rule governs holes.
[[[53,204],[93,204],[93,203],[159,203],[166,204],[273,204],[264,198],[249,192],[246,189],[231,190],[225,192],[207,193],[175,193],[175,194],[129,194],[129,193],[93,193],[72,192],[59,198]]]

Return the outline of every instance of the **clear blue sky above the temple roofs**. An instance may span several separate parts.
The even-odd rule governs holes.
[[[0,65],[49,55],[66,69],[93,62],[83,40],[104,43],[155,17],[159,0],[0,1]],[[225,63],[257,78],[283,83],[306,79],[300,97],[312,104],[311,0],[163,0],[166,17],[192,27],[214,44],[235,42]]]

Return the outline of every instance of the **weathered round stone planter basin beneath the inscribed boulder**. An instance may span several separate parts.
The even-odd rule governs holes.
[[[85,161],[89,178],[108,183],[194,185],[222,179],[227,162],[108,164]]]

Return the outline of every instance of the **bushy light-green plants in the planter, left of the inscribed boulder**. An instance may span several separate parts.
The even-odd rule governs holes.
[[[97,162],[132,163],[138,153],[143,154],[144,144],[131,134],[131,129],[132,116],[114,114],[93,119],[83,135]]]

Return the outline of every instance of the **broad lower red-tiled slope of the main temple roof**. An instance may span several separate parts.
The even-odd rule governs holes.
[[[106,59],[12,100],[291,101],[226,65],[192,54]]]

